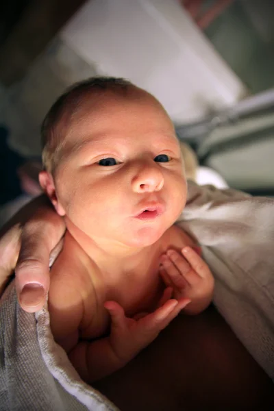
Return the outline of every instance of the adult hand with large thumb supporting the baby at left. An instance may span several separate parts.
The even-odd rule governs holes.
[[[22,228],[14,225],[18,221],[25,222]],[[0,240],[0,295],[15,268],[18,301],[23,310],[36,312],[47,298],[49,258],[51,251],[60,251],[64,221],[42,196],[27,204],[8,225],[12,229]]]

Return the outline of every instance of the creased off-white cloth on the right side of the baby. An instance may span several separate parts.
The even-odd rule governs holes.
[[[190,183],[178,224],[202,245],[216,308],[274,382],[274,199]]]

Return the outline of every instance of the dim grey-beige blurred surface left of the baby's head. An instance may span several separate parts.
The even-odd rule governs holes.
[[[5,104],[0,105],[0,123],[8,125],[10,146],[25,156],[40,155],[40,125],[52,103],[69,85],[96,74],[90,64],[55,38],[26,77],[2,92]]]

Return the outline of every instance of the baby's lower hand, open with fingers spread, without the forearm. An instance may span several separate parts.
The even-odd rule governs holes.
[[[171,290],[166,289],[162,306],[150,314],[141,314],[131,319],[115,301],[107,301],[104,306],[111,316],[110,345],[121,366],[132,360],[139,351],[147,347],[160,331],[190,303],[190,299],[170,299]],[[138,318],[139,317],[139,318]]]

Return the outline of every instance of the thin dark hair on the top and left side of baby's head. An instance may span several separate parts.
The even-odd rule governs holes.
[[[73,116],[82,104],[83,97],[90,92],[108,90],[126,92],[133,84],[120,77],[90,77],[70,86],[53,103],[41,126],[42,163],[47,171],[52,173],[58,162],[58,155],[64,144],[64,139],[58,133],[58,124],[69,110]]]

